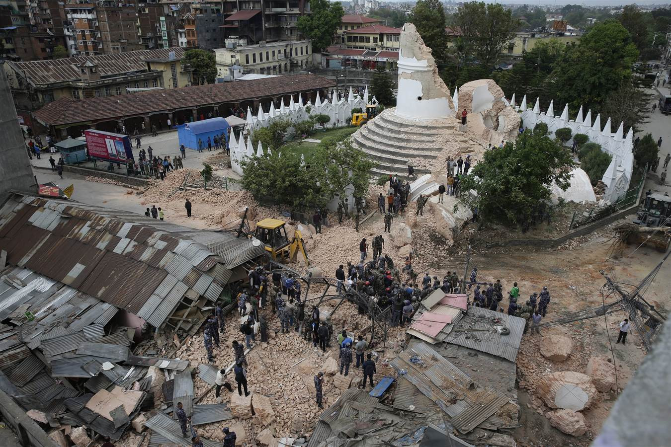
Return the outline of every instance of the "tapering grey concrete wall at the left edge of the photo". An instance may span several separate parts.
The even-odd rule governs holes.
[[[0,194],[7,190],[36,192],[28,151],[9,91],[4,64],[0,63]]]

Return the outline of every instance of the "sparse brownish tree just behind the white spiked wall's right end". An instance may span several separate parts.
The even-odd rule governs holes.
[[[651,99],[652,94],[636,86],[633,80],[625,80],[606,97],[599,111],[601,116],[611,117],[613,130],[624,122],[625,132],[631,127],[637,132],[648,122]]]

